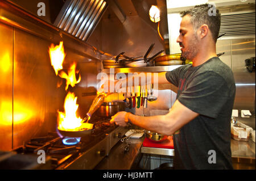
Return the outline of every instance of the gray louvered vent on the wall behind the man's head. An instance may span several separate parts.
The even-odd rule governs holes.
[[[219,35],[226,38],[255,36],[255,11],[230,12],[221,14]],[[226,37],[226,38],[225,38]]]

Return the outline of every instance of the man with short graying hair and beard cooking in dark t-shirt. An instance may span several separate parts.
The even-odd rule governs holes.
[[[118,112],[112,122],[174,134],[175,169],[232,169],[230,117],[236,93],[232,70],[216,55],[220,14],[208,4],[181,12],[177,43],[193,64],[159,74],[159,83],[178,87],[167,115],[142,117]],[[175,133],[176,132],[176,133]]]

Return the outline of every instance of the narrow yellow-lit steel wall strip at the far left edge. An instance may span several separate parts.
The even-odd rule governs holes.
[[[12,149],[13,27],[0,23],[0,150]]]

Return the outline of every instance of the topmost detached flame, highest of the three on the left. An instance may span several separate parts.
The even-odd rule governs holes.
[[[57,75],[58,71],[63,69],[62,64],[66,56],[64,53],[63,41],[60,41],[60,44],[56,46],[51,44],[51,47],[49,47],[49,56],[51,58],[53,69],[55,70],[55,74]]]

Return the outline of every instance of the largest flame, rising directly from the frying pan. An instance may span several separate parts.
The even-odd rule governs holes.
[[[81,131],[81,129],[92,129],[93,124],[82,123],[82,119],[76,115],[79,107],[76,104],[77,97],[73,92],[68,92],[64,109],[65,112],[59,112],[59,126],[58,129],[62,131]]]

